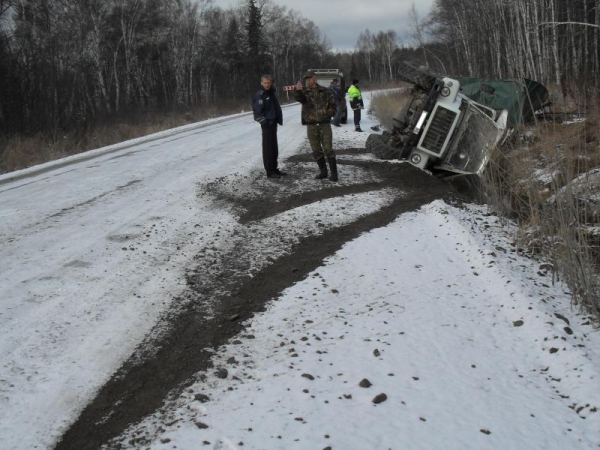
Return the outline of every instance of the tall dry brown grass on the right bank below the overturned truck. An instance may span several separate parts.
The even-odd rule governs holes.
[[[520,248],[551,262],[553,280],[600,322],[598,110],[585,121],[539,123],[486,169],[488,203],[519,224]]]

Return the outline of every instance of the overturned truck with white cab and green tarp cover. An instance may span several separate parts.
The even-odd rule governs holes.
[[[399,75],[413,84],[410,99],[366,148],[441,176],[481,175],[494,149],[548,102],[546,88],[528,79],[442,77],[411,63]]]

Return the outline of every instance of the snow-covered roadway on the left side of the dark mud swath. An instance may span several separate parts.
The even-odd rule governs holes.
[[[306,136],[284,111],[282,158]],[[248,113],[162,135],[0,177],[3,448],[53,442],[169,308],[228,220],[196,184],[262,167]]]

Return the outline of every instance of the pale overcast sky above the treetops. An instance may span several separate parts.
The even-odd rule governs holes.
[[[407,35],[409,13],[415,4],[419,18],[430,11],[434,0],[273,0],[273,3],[299,11],[324,33],[333,49],[352,50],[361,31],[372,33],[394,30],[403,43]],[[245,0],[214,0],[225,9]]]

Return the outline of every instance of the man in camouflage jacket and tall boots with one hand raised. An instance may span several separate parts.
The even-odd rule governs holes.
[[[304,83],[298,81],[294,98],[302,103],[302,122],[306,124],[306,134],[313,158],[319,166],[317,180],[327,178],[327,162],[331,169],[331,181],[338,180],[337,162],[333,152],[331,117],[335,115],[335,100],[326,87],[317,84],[314,72],[307,72]],[[327,162],[325,162],[327,158]]]

